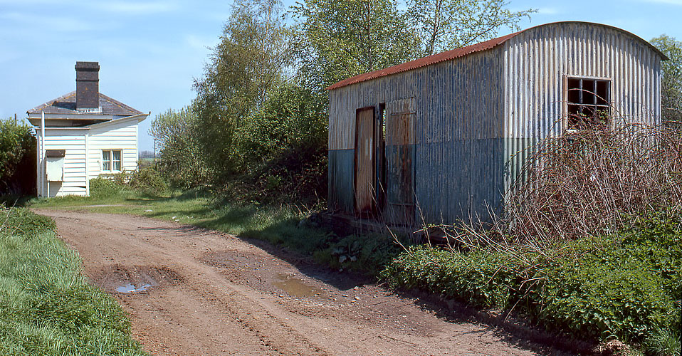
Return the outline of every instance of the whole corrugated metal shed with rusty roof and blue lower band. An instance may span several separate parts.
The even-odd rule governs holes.
[[[619,28],[561,22],[342,80],[329,88],[329,207],[354,212],[358,108],[376,108],[376,125],[387,137],[385,147],[377,140],[377,153],[385,155],[376,167],[386,169],[377,187],[387,188],[377,189],[377,217],[399,224],[392,204],[411,204],[394,199],[402,189],[398,196],[414,198],[414,216],[403,217],[404,224],[421,216],[486,219],[488,209],[502,206],[531,147],[567,129],[567,78],[608,80],[609,103],[621,120],[655,123],[661,59],[651,44]],[[414,107],[414,137],[392,145],[391,117],[404,100]]]

